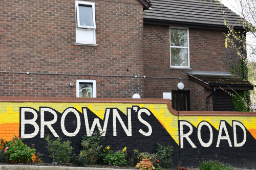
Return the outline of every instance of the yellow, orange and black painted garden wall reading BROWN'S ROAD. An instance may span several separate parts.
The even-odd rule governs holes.
[[[173,145],[174,165],[219,159],[255,167],[255,112],[177,112],[162,99],[0,98],[0,137],[22,136],[49,161],[45,135],[70,140],[74,153],[83,135],[104,132],[103,145],[154,153]]]

